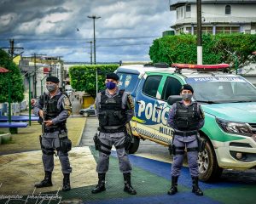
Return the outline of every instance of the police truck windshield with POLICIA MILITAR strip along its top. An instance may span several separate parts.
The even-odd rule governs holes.
[[[194,98],[206,103],[238,103],[256,101],[256,88],[242,77],[189,77]]]

